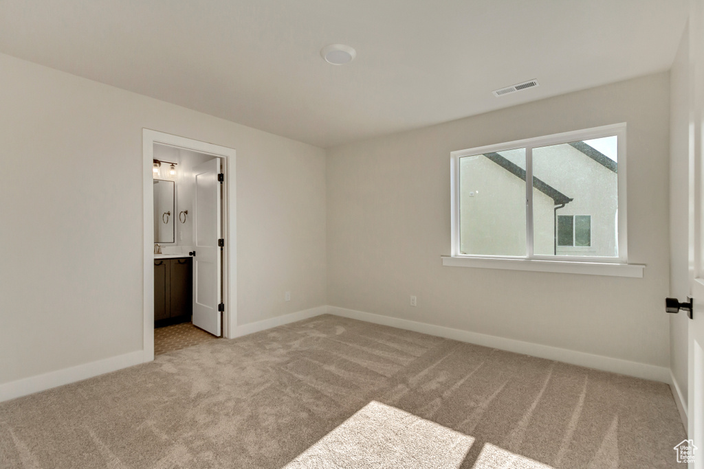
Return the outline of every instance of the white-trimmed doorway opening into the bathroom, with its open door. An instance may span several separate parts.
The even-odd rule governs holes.
[[[172,342],[160,344],[161,352],[203,342],[203,330],[210,338],[233,337],[236,152],[150,129],[144,129],[143,143],[144,361],[151,361],[155,320],[167,326],[158,329],[160,338]],[[156,191],[157,180],[172,181],[165,185],[172,192]],[[161,198],[165,205],[157,207]],[[189,324],[191,314],[199,329]]]

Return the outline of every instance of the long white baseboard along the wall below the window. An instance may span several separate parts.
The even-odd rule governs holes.
[[[437,335],[438,337],[460,340],[461,342],[484,345],[485,347],[506,350],[508,352],[532,355],[543,359],[563,361],[568,364],[586,366],[587,368],[595,368],[597,370],[635,376],[636,378],[661,381],[662,383],[668,384],[670,383],[670,368],[666,368],[665,366],[648,365],[638,363],[636,361],[615,359],[609,356],[560,349],[549,345],[539,345],[531,342],[523,342],[521,340],[506,339],[497,337],[496,335],[486,335],[470,332],[468,330],[434,326],[432,324],[408,321],[408,319],[399,319],[390,316],[382,316],[380,314],[372,314],[365,311],[356,311],[354,309],[331,306],[328,307],[328,313],[350,319],[359,319],[360,321],[382,324],[383,326],[413,330],[424,334]]]

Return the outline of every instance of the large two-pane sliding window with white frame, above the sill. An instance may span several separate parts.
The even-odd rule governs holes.
[[[625,264],[625,137],[615,124],[451,153],[452,257]]]

